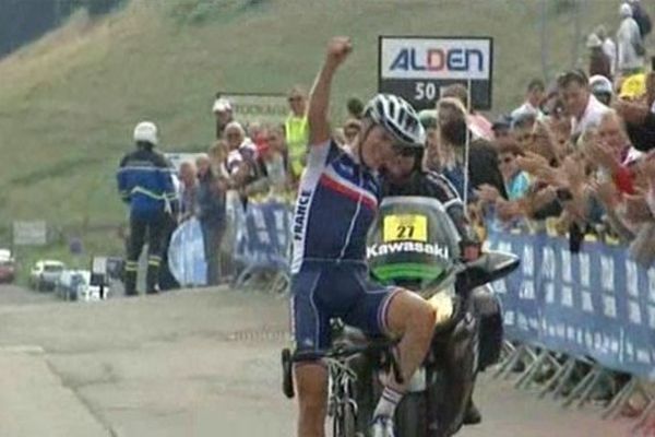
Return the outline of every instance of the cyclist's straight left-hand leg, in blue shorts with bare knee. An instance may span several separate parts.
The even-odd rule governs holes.
[[[330,344],[330,318],[315,295],[321,271],[301,271],[291,279],[291,326],[297,353],[315,353],[294,367],[298,392],[298,436],[323,437],[327,410],[327,369],[319,352]]]

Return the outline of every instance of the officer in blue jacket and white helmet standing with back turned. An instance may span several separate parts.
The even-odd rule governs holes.
[[[157,293],[162,263],[162,244],[167,214],[176,199],[172,168],[164,155],[154,150],[158,144],[157,127],[142,121],[134,128],[136,150],[128,153],[118,169],[118,189],[130,205],[130,239],[124,268],[126,295],[136,295],[139,256],[148,245],[146,293]]]

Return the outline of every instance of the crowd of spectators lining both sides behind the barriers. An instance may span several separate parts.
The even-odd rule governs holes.
[[[645,62],[651,21],[638,0],[621,4],[619,16],[616,43],[604,26],[587,37],[586,70],[565,71],[550,84],[528,81],[524,102],[493,122],[471,109],[461,84],[442,90],[433,109],[421,111],[424,165],[451,180],[483,238],[489,226],[544,231],[568,236],[575,251],[593,236],[629,245],[644,265],[655,261],[655,74]],[[209,284],[225,277],[218,248],[228,205],[294,197],[305,165],[307,94],[294,86],[287,97],[283,123],[245,125],[218,96],[214,144],[179,168],[178,222],[201,224]],[[362,110],[358,98],[347,102],[345,121],[334,129],[337,142],[355,141]]]

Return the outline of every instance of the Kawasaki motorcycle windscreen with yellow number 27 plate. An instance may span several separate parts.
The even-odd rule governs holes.
[[[437,286],[458,258],[457,229],[437,199],[382,201],[367,240],[367,262],[376,280],[415,290]]]

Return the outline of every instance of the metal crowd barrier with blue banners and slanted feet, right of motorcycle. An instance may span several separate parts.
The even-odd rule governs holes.
[[[618,246],[585,243],[580,253],[546,235],[490,234],[490,247],[522,256],[523,267],[495,284],[508,340],[496,378],[538,386],[563,408],[581,408],[602,387],[615,389],[602,416],[615,417],[634,397],[645,408],[633,432],[653,426],[655,392],[655,269]],[[648,428],[650,429],[650,428]]]

